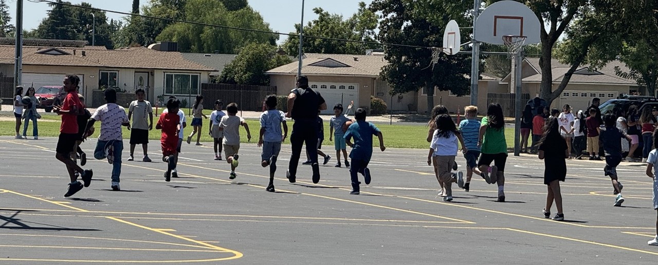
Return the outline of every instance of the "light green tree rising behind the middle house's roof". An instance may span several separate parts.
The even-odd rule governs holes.
[[[313,9],[313,12],[318,15],[318,18],[304,26],[304,35],[375,42],[375,29],[378,25],[377,15],[370,11],[363,2],[359,3],[357,13],[347,18],[347,20],[343,20],[342,15],[330,14],[319,7]],[[295,32],[291,32],[291,34],[299,34],[299,24],[295,24]],[[289,36],[282,47],[288,54],[298,54],[299,37]],[[303,43],[305,53],[364,54],[366,49],[375,49],[377,47],[378,45],[374,44],[318,38],[304,38]]]

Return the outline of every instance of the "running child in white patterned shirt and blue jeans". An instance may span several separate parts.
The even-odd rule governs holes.
[[[96,121],[101,121],[101,134],[98,136],[93,157],[97,160],[107,158],[107,162],[112,165],[111,188],[113,191],[120,191],[119,176],[121,175],[121,153],[123,152],[121,126],[126,126],[130,130],[130,120],[126,116],[126,110],[120,105],[116,105],[116,90],[107,88],[103,93],[107,104],[98,107],[91,115],[85,131],[89,132]]]

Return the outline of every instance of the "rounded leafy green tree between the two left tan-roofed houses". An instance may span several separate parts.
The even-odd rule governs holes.
[[[270,44],[249,44],[226,65],[217,82],[224,84],[268,85],[270,77],[265,71],[291,63],[290,57],[276,53]]]

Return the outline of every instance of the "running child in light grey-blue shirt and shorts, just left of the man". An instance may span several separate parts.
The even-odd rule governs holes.
[[[274,192],[274,173],[276,172],[276,158],[281,151],[281,142],[288,137],[288,125],[286,125],[286,113],[276,109],[276,95],[267,96],[265,99],[267,111],[261,114],[261,132],[259,133],[258,147],[263,146],[261,154],[261,165],[270,166],[270,183],[265,191]],[[281,134],[281,125],[284,134]],[[247,132],[249,129],[247,129]]]

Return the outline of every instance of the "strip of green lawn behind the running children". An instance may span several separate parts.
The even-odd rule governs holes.
[[[204,120],[204,126],[201,129],[201,142],[212,142],[211,137],[208,134],[208,120]],[[258,142],[258,134],[260,131],[259,121],[247,119],[247,124],[249,125],[249,130],[251,131],[251,142]],[[57,137],[59,135],[59,117],[54,115],[43,115],[43,121],[39,122],[39,136],[50,136]],[[376,124],[377,127],[384,134],[384,144],[386,147],[390,148],[420,148],[426,149],[429,146],[429,143],[426,141],[427,137],[427,127],[424,125],[388,125],[388,124]],[[16,124],[13,121],[0,121],[0,135],[14,135],[14,127]],[[100,131],[100,123],[96,123],[96,132],[91,137],[97,137],[98,132]],[[154,126],[155,127],[155,126]],[[188,127],[185,129],[185,134],[189,135],[192,128]],[[292,130],[292,123],[288,125],[288,129]],[[28,128],[28,137],[32,134],[32,125]],[[241,142],[247,142],[246,132],[244,129],[240,130]],[[290,132],[288,134],[290,136]],[[505,137],[507,138],[507,146],[512,148],[514,146],[514,129],[506,128]],[[30,137],[31,138],[31,137]],[[130,131],[124,127],[124,138],[130,138]],[[153,129],[149,133],[149,138],[151,140],[160,139],[160,131]],[[196,136],[194,137],[196,138]],[[378,146],[376,138],[374,138],[374,146]],[[290,142],[289,139],[286,139],[286,142]],[[333,142],[329,142],[329,125],[328,122],[324,122],[324,146],[332,146]]]

